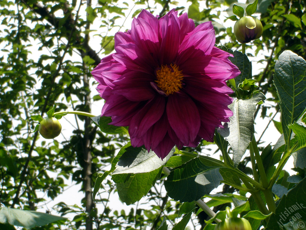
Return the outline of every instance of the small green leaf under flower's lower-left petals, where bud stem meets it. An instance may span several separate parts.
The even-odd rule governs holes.
[[[98,126],[102,132],[105,132],[107,134],[118,134],[118,133],[126,133],[128,134],[128,129],[126,127],[121,126],[115,126],[115,125],[109,125],[110,122],[112,122],[112,119],[110,117],[91,117],[91,120],[94,122],[96,126]]]

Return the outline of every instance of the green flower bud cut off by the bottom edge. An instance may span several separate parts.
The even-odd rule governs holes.
[[[216,225],[215,230],[252,230],[251,224],[244,218],[226,218]]]

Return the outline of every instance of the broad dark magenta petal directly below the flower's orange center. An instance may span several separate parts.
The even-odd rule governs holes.
[[[171,94],[167,117],[171,128],[184,144],[195,140],[200,128],[200,114],[191,98],[184,94]]]

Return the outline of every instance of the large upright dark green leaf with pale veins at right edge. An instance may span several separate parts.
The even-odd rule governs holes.
[[[295,53],[282,52],[275,64],[274,84],[282,111],[282,129],[288,144],[291,130],[288,125],[300,117],[306,107],[306,62]]]

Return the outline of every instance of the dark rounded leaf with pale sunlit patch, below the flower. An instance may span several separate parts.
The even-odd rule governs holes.
[[[164,182],[167,195],[180,202],[197,201],[218,187],[222,180],[218,167],[205,165],[205,160],[195,158],[175,168]]]

